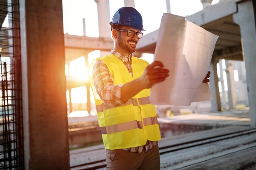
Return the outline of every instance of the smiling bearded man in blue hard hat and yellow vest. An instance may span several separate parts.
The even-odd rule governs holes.
[[[132,57],[145,31],[136,9],[119,8],[110,25],[114,48],[90,66],[107,169],[160,170],[160,130],[149,96],[152,85],[169,77],[169,70],[159,61],[149,65]],[[209,82],[209,74],[203,82]]]

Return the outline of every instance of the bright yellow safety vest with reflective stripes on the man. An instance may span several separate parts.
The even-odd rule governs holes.
[[[132,57],[132,77],[123,62],[113,54],[98,59],[108,66],[115,85],[139,78],[146,66],[149,65],[143,59]],[[90,71],[92,71],[96,60],[90,65]],[[161,140],[155,107],[151,105],[149,100],[150,89],[144,89],[123,105],[110,107],[102,103],[96,93],[91,76],[90,86],[93,89],[99,127],[105,148],[113,150],[137,147],[145,145],[147,139],[150,141]]]

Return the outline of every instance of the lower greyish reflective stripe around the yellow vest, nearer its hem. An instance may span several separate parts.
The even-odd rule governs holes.
[[[144,123],[144,126],[158,124],[157,116],[143,118],[143,123]],[[100,130],[102,135],[105,135],[105,134],[117,133],[117,132],[122,132],[126,130],[137,129],[137,128],[139,129],[143,128],[142,121],[134,120],[131,122],[124,122],[116,125],[104,126],[104,127],[100,127]]]

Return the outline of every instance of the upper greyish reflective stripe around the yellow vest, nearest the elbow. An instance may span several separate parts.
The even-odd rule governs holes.
[[[138,101],[139,101],[139,104],[140,104],[140,105],[151,104],[151,102],[150,102],[150,100],[149,100],[149,97],[138,98]],[[125,105],[122,105],[122,106],[127,106],[127,105],[139,106],[139,105],[138,105],[138,102],[137,102],[137,99],[129,99],[129,100],[125,103]],[[120,106],[117,106],[117,107],[120,107]],[[108,106],[108,105],[105,105],[104,103],[102,103],[102,105],[96,105],[96,111],[97,111],[97,113],[103,112],[103,111],[106,111],[106,110],[112,109],[112,108],[116,108],[116,107],[114,107],[114,106]]]

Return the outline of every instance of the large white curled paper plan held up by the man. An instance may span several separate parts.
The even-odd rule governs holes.
[[[189,106],[212,100],[209,71],[218,36],[177,15],[164,13],[158,31],[154,61],[163,62],[169,77],[151,88],[154,105]],[[212,75],[211,75],[212,76]]]

